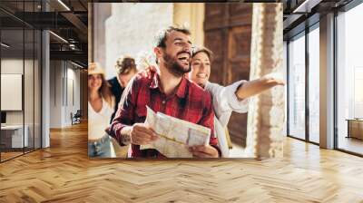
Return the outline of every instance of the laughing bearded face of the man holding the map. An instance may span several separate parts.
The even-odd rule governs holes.
[[[191,39],[189,34],[172,31],[168,34],[165,47],[157,47],[157,57],[170,73],[181,77],[191,71]]]

